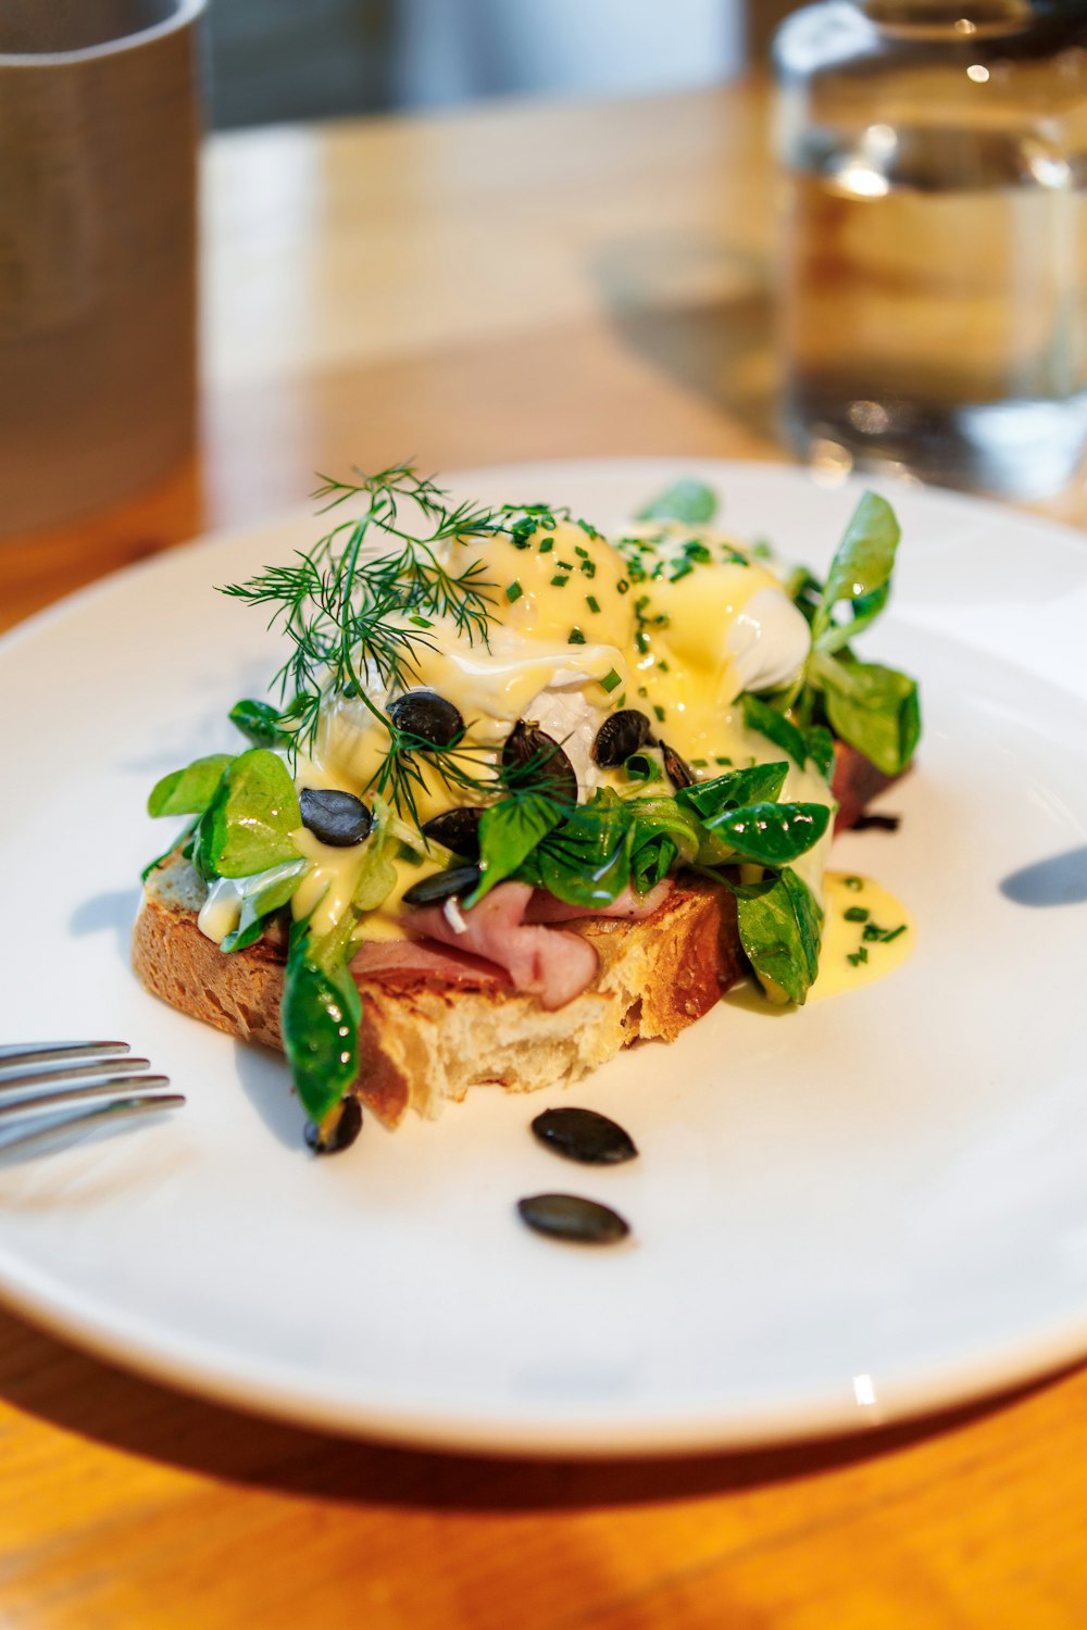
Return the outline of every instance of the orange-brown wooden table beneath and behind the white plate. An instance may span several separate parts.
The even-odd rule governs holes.
[[[0,544],[0,621],[311,473],[781,456],[756,86],[280,129],[207,155],[199,471]],[[1053,509],[1087,522],[1082,489]],[[1087,1372],[869,1438],[631,1465],[411,1454],[132,1379],[0,1314],[20,1630],[1080,1630]]]

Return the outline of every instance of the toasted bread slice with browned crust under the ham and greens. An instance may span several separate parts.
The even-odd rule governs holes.
[[[218,1030],[282,1046],[282,939],[266,936],[227,955],[197,927],[202,900],[204,885],[181,856],[150,874],[132,934],[137,975]],[[533,1092],[577,1081],[632,1042],[671,1042],[745,967],[735,901],[701,879],[681,880],[640,923],[590,918],[564,931],[592,942],[600,970],[554,1012],[494,983],[451,986],[403,968],[363,978],[355,1084],[363,1104],[394,1125],[407,1108],[437,1115],[445,1099],[474,1086]]]

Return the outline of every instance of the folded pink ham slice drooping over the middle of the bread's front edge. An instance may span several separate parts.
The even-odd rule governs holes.
[[[517,991],[554,1011],[592,985],[598,958],[579,934],[526,923],[531,896],[528,883],[499,883],[471,911],[422,906],[404,916],[404,926],[412,936],[497,963]]]

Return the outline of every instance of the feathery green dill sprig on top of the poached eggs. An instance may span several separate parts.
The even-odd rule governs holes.
[[[481,561],[456,570],[440,557],[440,548],[489,538],[505,520],[482,505],[450,505],[435,481],[412,465],[391,465],[357,481],[318,481],[318,513],[347,499],[362,499],[365,509],[310,551],[298,551],[292,564],[267,567],[222,592],[271,606],[269,628],[279,623],[292,644],[272,685],[297,745],[308,747],[316,737],[324,696],[342,693],[365,703],[389,730],[391,751],[403,755],[407,748],[368,688],[375,676],[386,689],[406,685],[416,652],[435,649],[429,634],[435,618],[448,618],[473,644],[487,642],[494,584]]]

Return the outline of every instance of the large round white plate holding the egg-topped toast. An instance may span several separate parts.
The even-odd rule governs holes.
[[[684,465],[742,533],[823,567],[856,499],[792,469]],[[456,478],[601,525],[675,463]],[[150,784],[231,745],[275,660],[213,584],[316,525],[213,538],[78,595],[0,647],[5,1037],[117,1035],[176,1117],[0,1169],[0,1284],[33,1317],[184,1387],[451,1447],[632,1454],[851,1430],[1087,1351],[1087,544],[1020,513],[891,494],[919,768],[895,838],[841,862],[918,918],[893,978],[776,1015],[722,1004],[566,1095],[479,1090],[437,1123],[300,1148],[282,1063],[145,996],[127,967]],[[236,743],[233,743],[236,745]],[[566,1167],[552,1102],[642,1156]],[[636,1239],[543,1240],[520,1195],[614,1203]]]

